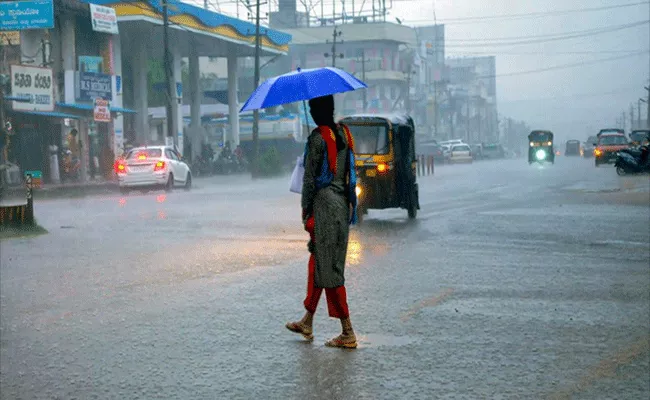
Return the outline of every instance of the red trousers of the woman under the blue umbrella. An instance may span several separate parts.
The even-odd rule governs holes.
[[[311,236],[312,241],[316,241],[314,235],[314,217],[311,217],[307,220],[307,225],[305,226],[307,232]],[[318,308],[318,300],[323,293],[323,288],[316,287],[314,285],[314,270],[316,269],[316,257],[314,254],[309,257],[309,266],[307,274],[307,297],[305,297],[304,305],[307,311],[314,314],[316,308]],[[348,318],[350,316],[350,311],[348,310],[348,299],[347,293],[345,292],[345,286],[339,286],[335,288],[325,288],[325,296],[327,297],[327,311],[329,316],[332,318]]]

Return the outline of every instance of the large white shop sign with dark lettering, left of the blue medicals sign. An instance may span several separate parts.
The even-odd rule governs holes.
[[[17,111],[54,111],[54,78],[50,68],[11,66],[11,95],[29,99],[14,101]]]

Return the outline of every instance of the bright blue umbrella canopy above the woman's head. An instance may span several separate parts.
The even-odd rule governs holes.
[[[300,69],[262,83],[241,111],[258,110],[316,97],[349,92],[368,86],[347,72],[333,67]]]

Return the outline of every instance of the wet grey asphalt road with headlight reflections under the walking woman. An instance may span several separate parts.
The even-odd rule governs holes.
[[[650,396],[647,177],[437,168],[417,221],[353,228],[356,351],[323,346],[324,299],[314,343],[284,328],[308,256],[287,179],[196,185],[41,201],[50,233],[0,243],[0,398]]]

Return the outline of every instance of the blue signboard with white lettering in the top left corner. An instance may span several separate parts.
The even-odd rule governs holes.
[[[0,31],[54,28],[52,0],[0,2]]]

